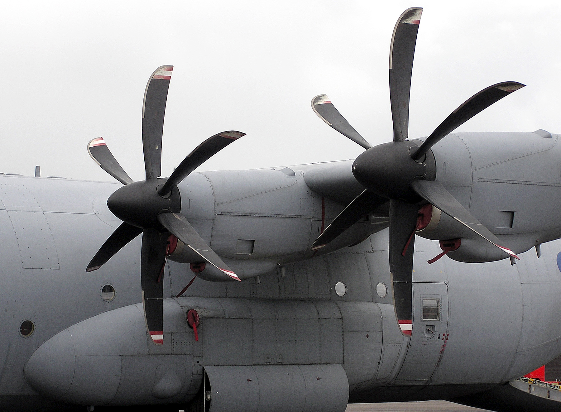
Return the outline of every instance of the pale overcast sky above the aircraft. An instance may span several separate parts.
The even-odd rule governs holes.
[[[468,4],[468,5],[467,5]],[[371,144],[392,139],[393,26],[424,7],[410,138],[426,136],[477,91],[527,84],[458,131],[561,132],[558,2],[4,2],[0,15],[0,172],[111,180],[86,152],[103,136],[144,178],[146,81],[174,65],[162,173],[224,130],[247,136],[200,170],[355,158],[362,148],[310,108],[326,93]]]

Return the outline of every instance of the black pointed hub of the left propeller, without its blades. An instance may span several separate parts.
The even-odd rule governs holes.
[[[158,214],[162,210],[180,213],[181,195],[174,187],[171,195],[160,196],[158,186],[163,183],[161,179],[154,179],[125,185],[109,196],[107,207],[129,225],[166,231],[158,222]]]

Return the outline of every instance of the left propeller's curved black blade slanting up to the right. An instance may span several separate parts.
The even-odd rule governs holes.
[[[198,145],[185,159],[176,167],[165,184],[158,190],[160,196],[167,195],[174,187],[177,186],[184,178],[194,171],[201,164],[224,149],[234,140],[245,136],[245,133],[236,130],[223,131],[211,138],[206,139]]]

